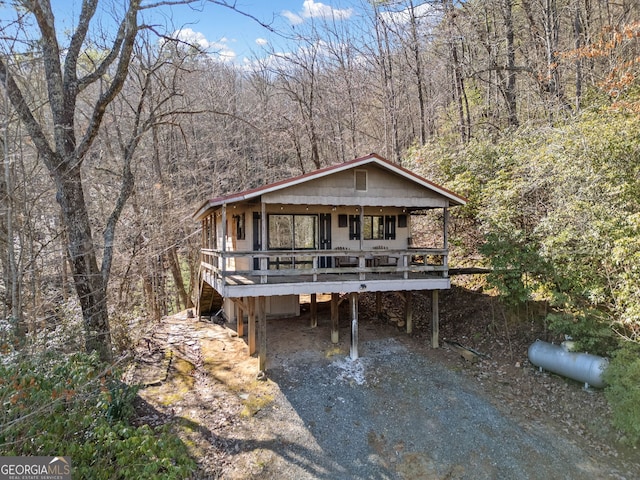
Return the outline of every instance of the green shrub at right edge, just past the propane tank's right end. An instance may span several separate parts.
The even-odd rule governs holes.
[[[640,344],[625,342],[614,353],[604,379],[614,426],[624,432],[627,443],[640,443]]]

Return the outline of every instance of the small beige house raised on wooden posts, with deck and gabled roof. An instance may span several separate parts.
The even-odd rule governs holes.
[[[250,354],[266,367],[267,318],[296,316],[300,295],[331,294],[331,339],[338,342],[338,305],[350,301],[351,349],[358,355],[358,294],[433,293],[432,344],[438,345],[438,291],[450,288],[447,223],[461,196],[371,154],[252,190],[204,202],[198,316],[224,312]],[[413,240],[420,215],[439,209],[437,245]],[[258,332],[256,332],[256,326]],[[256,338],[258,345],[256,345]]]

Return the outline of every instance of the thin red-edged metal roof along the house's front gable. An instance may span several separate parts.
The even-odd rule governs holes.
[[[194,213],[193,218],[199,220],[208,210],[221,205],[228,205],[251,200],[266,193],[282,190],[294,185],[299,185],[301,183],[315,180],[317,178],[326,177],[337,172],[342,172],[344,170],[362,167],[369,164],[376,164],[383,169],[394,172],[412,182],[422,185],[423,187],[431,191],[439,193],[440,195],[448,198],[453,205],[464,205],[467,203],[466,198],[452,192],[451,190],[448,190],[430,180],[427,180],[426,178],[423,178],[420,175],[401,167],[400,165],[396,165],[395,163],[390,162],[389,160],[381,157],[376,153],[371,153],[365,157],[359,157],[344,163],[331,165],[329,167],[314,170],[313,172],[305,173],[304,175],[299,175],[297,177],[280,180],[279,182],[252,188],[250,190],[245,190],[244,192],[238,192],[230,195],[212,198],[200,205],[200,207],[196,210],[196,213]]]

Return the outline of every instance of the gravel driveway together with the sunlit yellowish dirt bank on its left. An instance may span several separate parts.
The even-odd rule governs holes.
[[[194,478],[640,478],[635,463],[525,418],[444,362],[442,349],[395,327],[362,321],[352,361],[347,322],[337,346],[328,319],[268,322],[267,382],[228,328],[174,317],[156,331],[192,367],[173,362],[166,380],[141,391],[140,421],[182,432],[198,458]]]

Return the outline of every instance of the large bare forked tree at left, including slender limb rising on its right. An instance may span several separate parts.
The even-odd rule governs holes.
[[[103,360],[111,358],[111,338],[107,310],[107,285],[113,258],[115,228],[133,190],[130,161],[139,142],[140,131],[123,144],[124,163],[120,189],[103,230],[101,264],[98,245],[85,196],[83,164],[100,131],[105,112],[120,94],[128,76],[140,26],[140,0],[127,3],[113,27],[111,43],[103,54],[91,59],[85,54],[92,44],[89,32],[104,19],[96,18],[98,0],[83,0],[77,23],[68,44],[61,43],[49,0],[17,2],[35,20],[37,57],[46,79],[46,102],[41,102],[30,84],[15,75],[13,52],[0,57],[0,82],[22,124],[46,166],[56,188],[56,199],[68,239],[68,255],[75,289],[82,307],[85,347],[98,351]],[[188,1],[162,2],[190,3]],[[214,2],[224,6],[226,2]],[[108,37],[109,31],[105,33]],[[97,38],[93,39],[96,42]],[[144,102],[143,102],[144,104]]]

